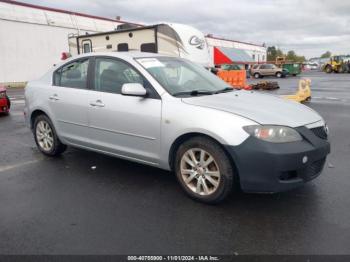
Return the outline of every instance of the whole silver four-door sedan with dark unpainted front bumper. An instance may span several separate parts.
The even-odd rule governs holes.
[[[173,170],[194,199],[218,203],[234,188],[280,192],[317,177],[330,151],[312,109],[238,91],[190,61],[153,53],[90,53],[25,89],[39,150],[67,145]]]

